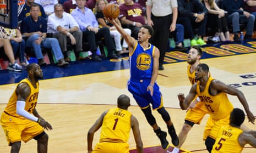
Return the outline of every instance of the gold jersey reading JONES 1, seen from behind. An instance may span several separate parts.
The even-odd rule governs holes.
[[[110,109],[101,126],[100,142],[127,143],[130,135],[132,114],[123,109]]]

